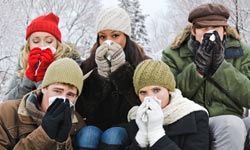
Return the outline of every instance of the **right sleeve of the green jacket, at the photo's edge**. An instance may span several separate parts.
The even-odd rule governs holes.
[[[250,54],[245,53],[241,59],[239,70],[224,60],[211,81],[235,103],[250,108]]]

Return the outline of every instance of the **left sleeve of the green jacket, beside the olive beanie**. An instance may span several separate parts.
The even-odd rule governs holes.
[[[205,82],[205,78],[198,75],[196,66],[192,60],[189,60],[189,64],[180,64],[178,62],[188,62],[188,60],[183,61],[179,59],[183,58],[179,57],[177,50],[174,51],[171,49],[166,49],[162,52],[162,61],[165,62],[173,72],[177,88],[181,89],[183,95],[186,97],[193,97],[197,90],[199,90]]]

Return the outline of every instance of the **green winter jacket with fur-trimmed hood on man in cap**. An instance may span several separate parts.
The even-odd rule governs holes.
[[[242,116],[243,107],[250,108],[250,48],[239,40],[236,30],[229,27],[225,60],[213,76],[202,78],[193,62],[190,31],[190,27],[186,28],[162,54],[162,60],[175,76],[177,88],[183,96],[204,106],[210,116]]]

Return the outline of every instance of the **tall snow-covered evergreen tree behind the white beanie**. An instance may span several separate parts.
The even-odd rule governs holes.
[[[148,34],[146,31],[145,21],[148,15],[142,13],[138,0],[118,0],[119,6],[124,8],[131,18],[132,35],[131,39],[138,42],[141,46],[148,49]]]

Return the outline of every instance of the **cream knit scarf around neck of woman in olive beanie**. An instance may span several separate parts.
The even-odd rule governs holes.
[[[175,89],[175,91],[170,92],[170,95],[171,95],[170,103],[165,108],[162,109],[164,116],[163,125],[172,124],[195,111],[207,112],[207,110],[204,107],[183,97],[179,89]],[[139,106],[134,106],[129,110],[128,121],[136,119],[136,113],[138,107]]]

